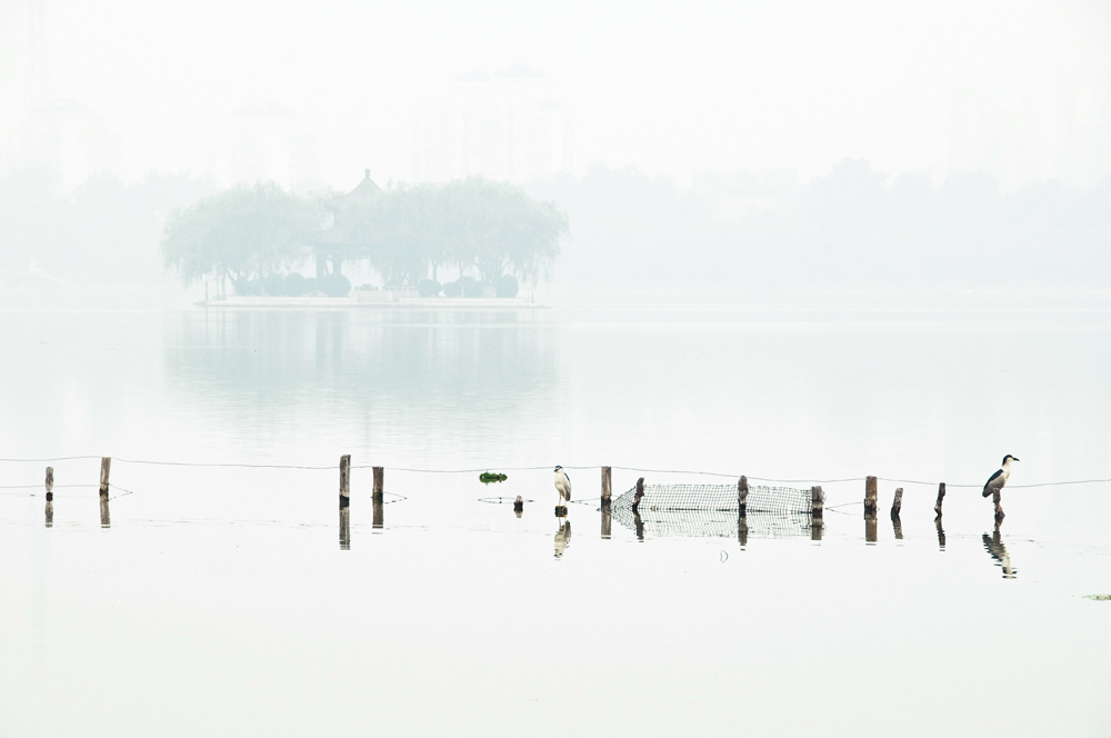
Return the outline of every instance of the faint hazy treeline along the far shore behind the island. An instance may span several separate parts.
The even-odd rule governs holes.
[[[1107,177],[1004,191],[983,173],[935,183],[847,160],[809,182],[739,173],[684,189],[595,168],[523,189],[567,213],[553,285],[570,291],[1107,288],[1111,273]],[[171,213],[217,192],[172,174],[94,178],[71,192],[41,171],[0,174],[0,287],[48,286],[36,270],[72,285],[163,285]]]

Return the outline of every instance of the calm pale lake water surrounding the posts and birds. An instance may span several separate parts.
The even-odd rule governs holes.
[[[1111,483],[1021,487],[1111,478],[1104,302],[11,309],[0,340],[0,457],[36,459],[0,461],[2,736],[1111,732]],[[46,460],[101,455],[109,528],[99,460]],[[599,465],[821,483],[824,526],[603,537]]]

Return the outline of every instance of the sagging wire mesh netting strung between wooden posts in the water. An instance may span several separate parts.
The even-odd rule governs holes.
[[[634,512],[635,488],[613,500],[610,511],[638,536],[737,538],[740,530],[735,485],[644,485]],[[811,492],[791,487],[750,486],[744,533],[792,538],[811,533]]]

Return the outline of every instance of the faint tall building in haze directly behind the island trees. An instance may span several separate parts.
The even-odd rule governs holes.
[[[419,181],[470,174],[527,182],[572,167],[571,120],[549,79],[523,64],[458,77],[413,111]]]

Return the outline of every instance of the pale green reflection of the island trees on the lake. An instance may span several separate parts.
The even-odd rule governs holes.
[[[539,417],[556,385],[554,335],[532,310],[208,310],[166,332],[171,393],[252,430],[330,416],[470,440]]]

